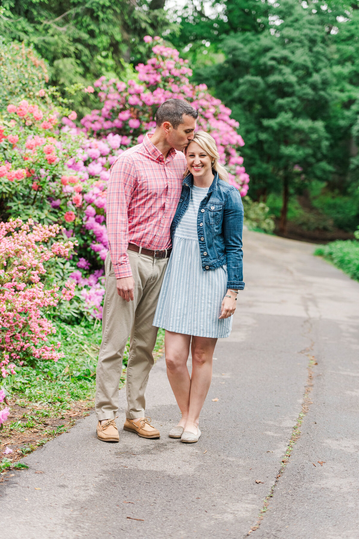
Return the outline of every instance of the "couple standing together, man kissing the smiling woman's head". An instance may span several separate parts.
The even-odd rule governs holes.
[[[118,386],[129,335],[123,429],[160,437],[145,416],[159,327],[166,330],[167,375],[182,414],[169,436],[198,441],[216,341],[229,336],[237,293],[244,288],[241,196],[218,163],[213,137],[194,132],[197,116],[185,101],[165,101],[154,133],[111,167],[95,402],[97,437],[103,441],[119,440]]]

